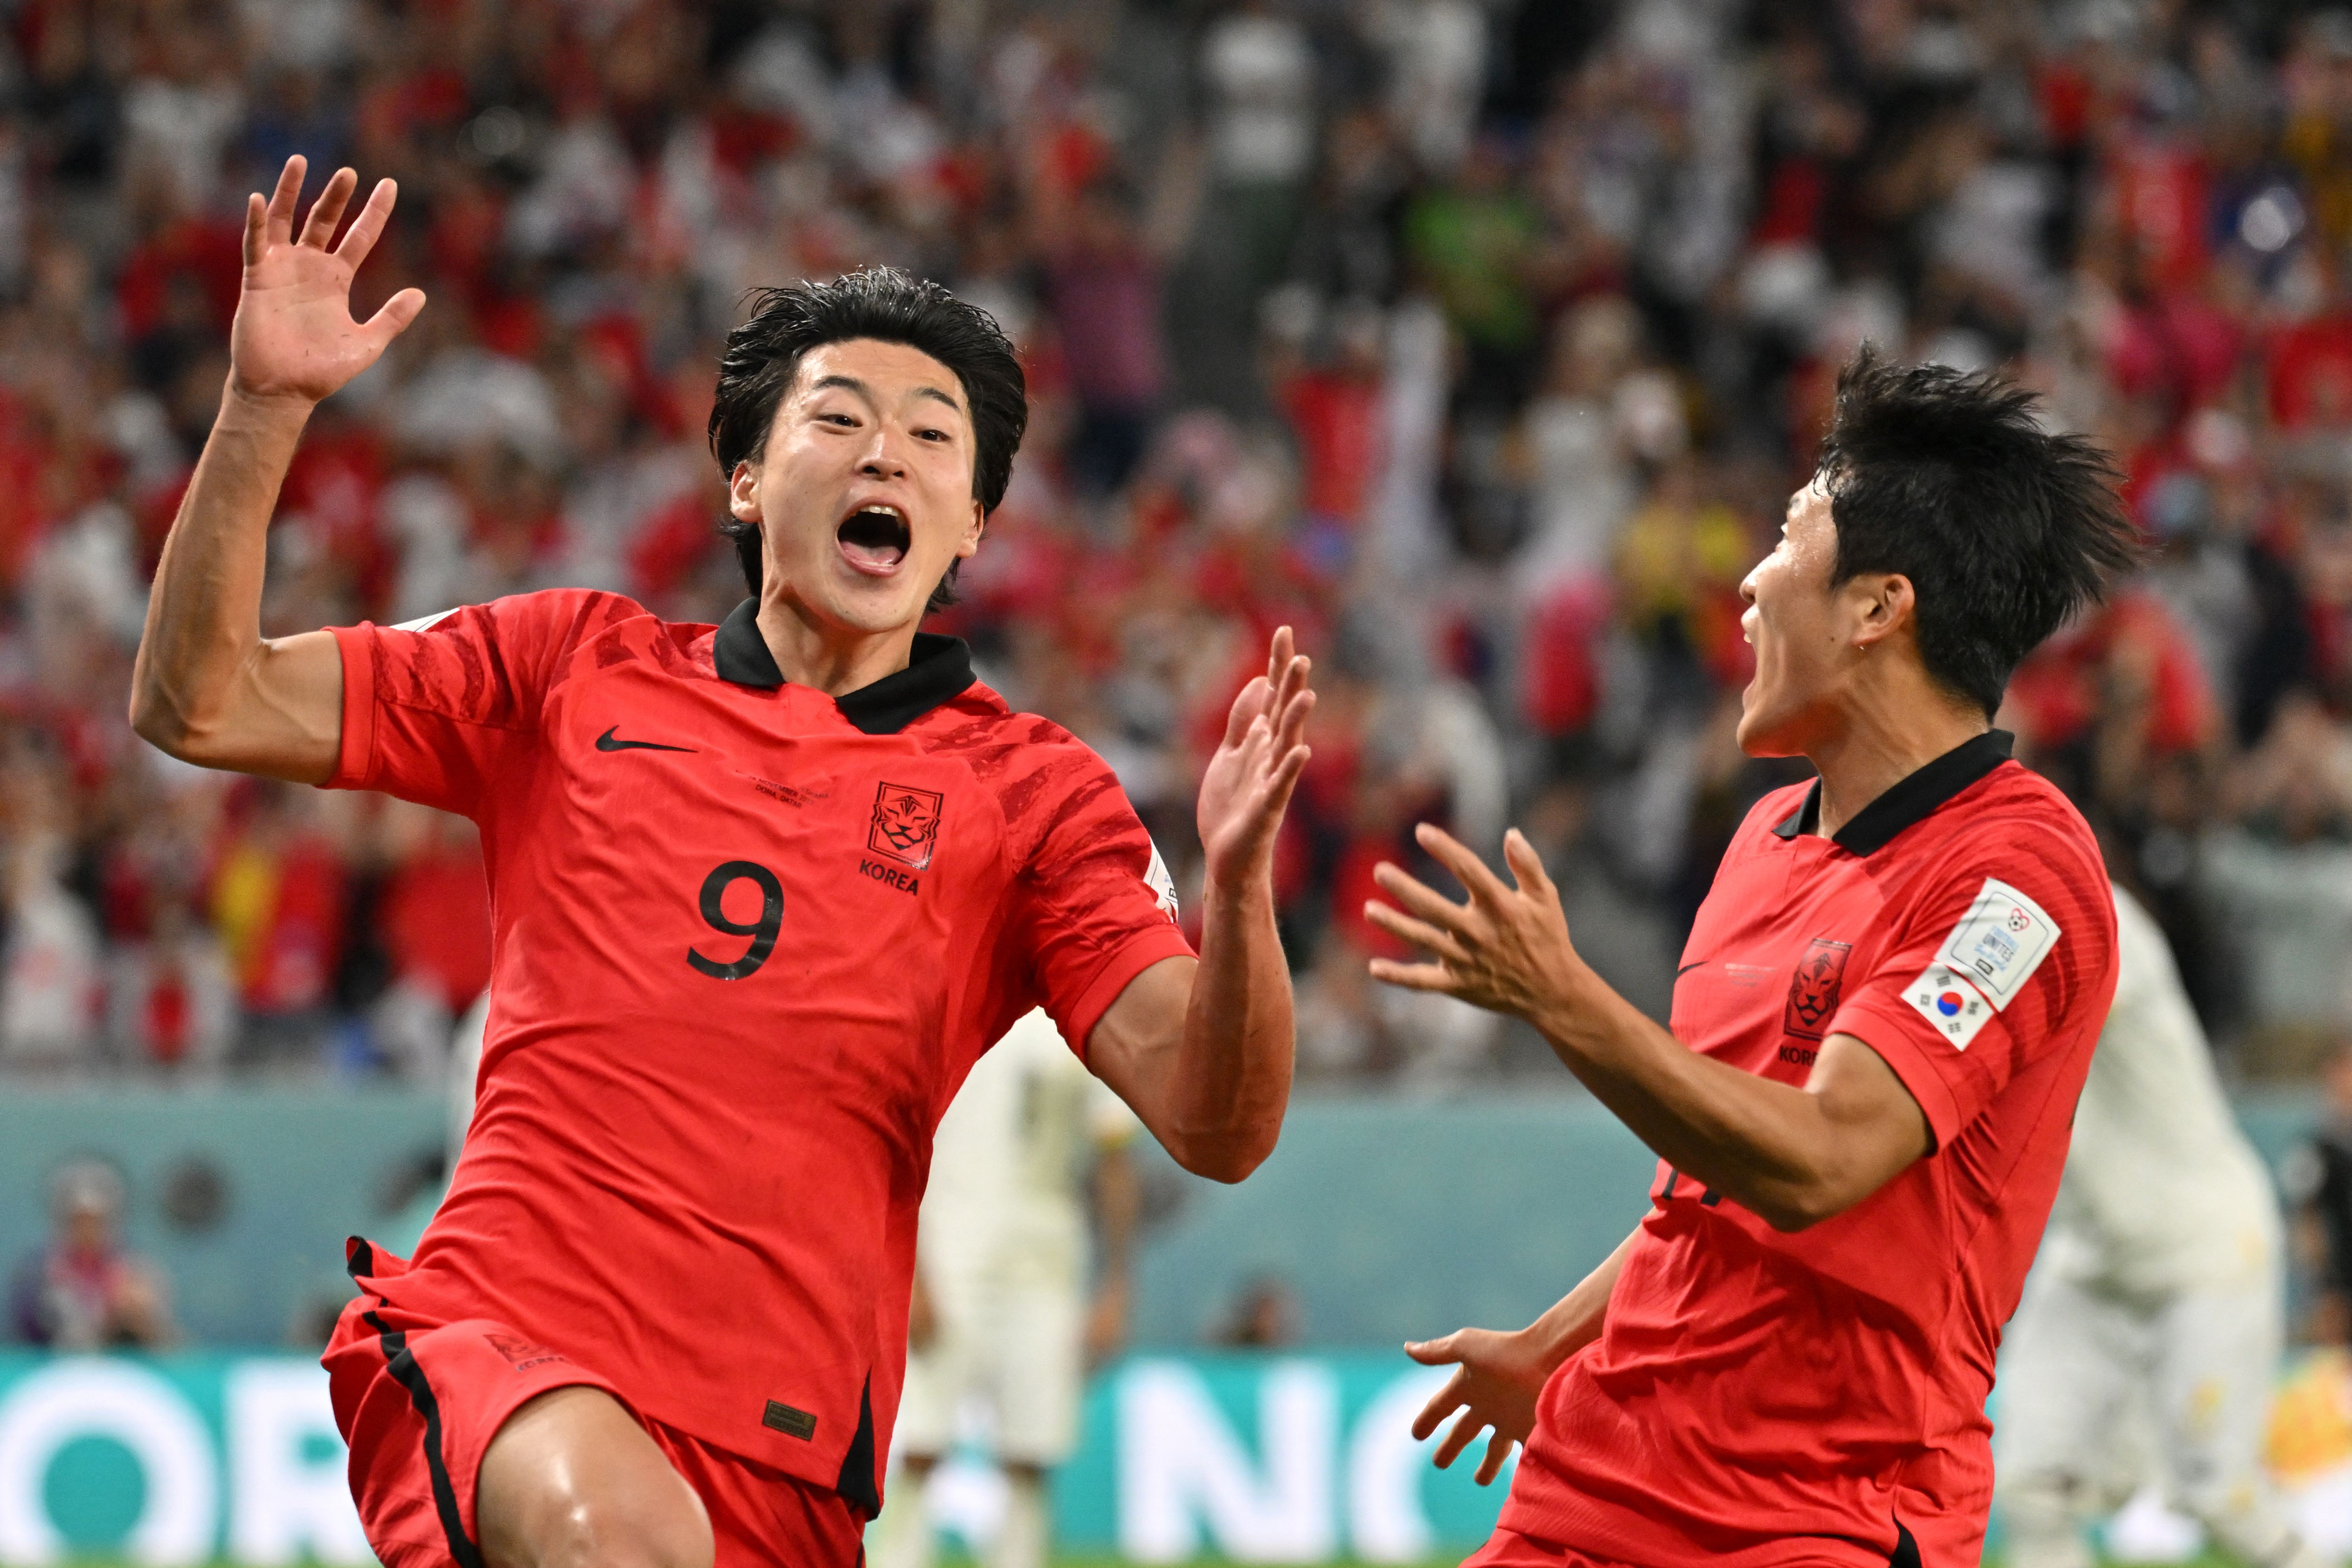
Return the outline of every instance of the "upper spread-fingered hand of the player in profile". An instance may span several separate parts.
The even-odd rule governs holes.
[[[1470,846],[1446,830],[1421,823],[1414,839],[1454,872],[1470,898],[1454,903],[1397,865],[1374,867],[1374,882],[1404,910],[1367,903],[1364,917],[1428,950],[1437,961],[1371,959],[1371,978],[1409,990],[1444,992],[1472,1006],[1534,1023],[1538,1011],[1569,990],[1569,978],[1581,964],[1569,943],[1569,917],[1559,907],[1559,889],[1552,886],[1543,860],[1536,858],[1536,846],[1517,827],[1503,835],[1503,860],[1510,863],[1515,882],[1515,886],[1505,886],[1486,870],[1484,860],[1470,853]]]

